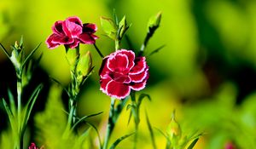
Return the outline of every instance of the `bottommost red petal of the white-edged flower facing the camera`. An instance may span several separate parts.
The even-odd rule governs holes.
[[[128,85],[124,83],[118,83],[113,80],[108,82],[106,90],[107,95],[117,99],[124,99],[126,96],[130,95],[131,91]]]

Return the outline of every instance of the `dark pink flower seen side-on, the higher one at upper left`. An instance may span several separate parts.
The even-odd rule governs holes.
[[[83,24],[76,16],[56,21],[51,29],[53,33],[45,42],[49,49],[55,49],[61,44],[74,49],[79,43],[94,44],[98,38],[94,35],[97,26],[91,23]]]

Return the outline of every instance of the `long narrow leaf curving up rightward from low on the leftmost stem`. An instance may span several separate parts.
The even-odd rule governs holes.
[[[24,119],[23,121],[23,127],[26,127],[26,123],[30,117],[30,114],[32,112],[32,108],[38,98],[38,95],[41,91],[41,89],[43,89],[43,84],[39,84],[38,87],[34,90],[34,92],[32,93],[32,95],[30,96],[30,99],[27,101],[26,106],[24,107],[25,113],[24,113]]]

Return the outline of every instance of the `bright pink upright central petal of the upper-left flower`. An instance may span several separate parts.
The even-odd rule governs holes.
[[[79,37],[79,35],[83,32],[82,26],[69,20],[65,20],[62,27],[67,37]]]

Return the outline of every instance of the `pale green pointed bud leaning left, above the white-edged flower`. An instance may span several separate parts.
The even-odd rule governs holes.
[[[113,20],[101,17],[101,24],[104,32],[107,34],[108,37],[115,40],[116,33],[117,33],[117,26],[113,22]]]

